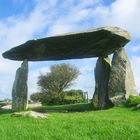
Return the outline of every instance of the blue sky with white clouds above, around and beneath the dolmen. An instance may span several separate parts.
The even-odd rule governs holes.
[[[2,58],[2,53],[30,39],[104,26],[118,26],[131,34],[126,52],[136,89],[140,92],[140,0],[0,0],[0,100],[11,98],[15,72],[22,62]],[[53,64],[74,64],[80,75],[73,89],[94,93],[97,58],[29,62],[29,95],[39,91],[37,78]]]

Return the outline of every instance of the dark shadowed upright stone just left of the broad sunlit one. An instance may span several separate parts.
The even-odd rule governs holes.
[[[112,106],[108,98],[110,70],[110,59],[108,57],[99,57],[95,68],[95,92],[93,95],[93,105],[97,109],[105,109]]]

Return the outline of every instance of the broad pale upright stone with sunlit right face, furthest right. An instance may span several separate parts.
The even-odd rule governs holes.
[[[115,105],[125,102],[130,95],[137,95],[131,64],[124,48],[113,55],[108,94]]]

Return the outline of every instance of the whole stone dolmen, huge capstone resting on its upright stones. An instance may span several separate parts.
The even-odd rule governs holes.
[[[130,95],[137,95],[131,65],[124,49],[130,40],[130,34],[121,28],[102,27],[30,40],[4,52],[4,58],[23,61],[13,85],[12,109],[19,111],[27,108],[28,61],[98,57],[92,101],[97,109],[121,104]],[[108,57],[110,54],[113,54],[112,62]]]

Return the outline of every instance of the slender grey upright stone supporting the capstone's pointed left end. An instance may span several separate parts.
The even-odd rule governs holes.
[[[22,111],[27,108],[28,61],[25,60],[16,71],[16,77],[12,89],[12,110]]]

